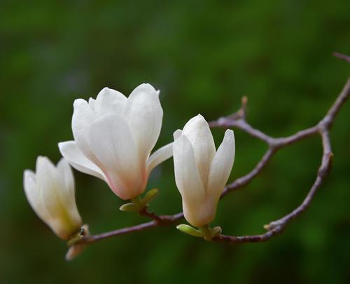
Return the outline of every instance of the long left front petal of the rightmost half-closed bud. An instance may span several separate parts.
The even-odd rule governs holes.
[[[182,196],[185,218],[194,226],[202,226],[207,222],[207,197],[195,163],[192,144],[185,135],[174,141],[173,156],[175,181]]]

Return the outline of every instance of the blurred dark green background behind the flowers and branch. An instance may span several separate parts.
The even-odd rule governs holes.
[[[105,86],[161,90],[156,148],[198,113],[236,111],[273,136],[313,126],[350,74],[350,1],[0,1],[0,283],[350,283],[350,103],[331,138],[332,174],[311,208],[268,243],[223,245],[174,226],[119,236],[66,262],[60,241],[29,207],[22,172],[36,156],[59,160],[71,140],[73,100]],[[223,130],[213,130],[216,145]],[[265,144],[236,131],[230,181]],[[224,233],[260,234],[304,198],[321,158],[318,137],[280,151],[244,190],[219,203]],[[80,214],[92,233],[146,219],[120,212],[104,182],[75,171]],[[151,209],[181,210],[172,160],[154,170]]]

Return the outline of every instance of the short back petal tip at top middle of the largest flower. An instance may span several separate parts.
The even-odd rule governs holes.
[[[103,88],[96,97],[96,107],[94,110],[97,116],[110,113],[123,116],[126,102],[127,97],[122,93],[110,88]]]

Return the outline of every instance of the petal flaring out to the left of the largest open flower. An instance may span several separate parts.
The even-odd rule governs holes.
[[[102,173],[102,170],[84,156],[75,141],[60,142],[58,147],[62,156],[69,161],[73,168],[106,181],[106,176]]]

